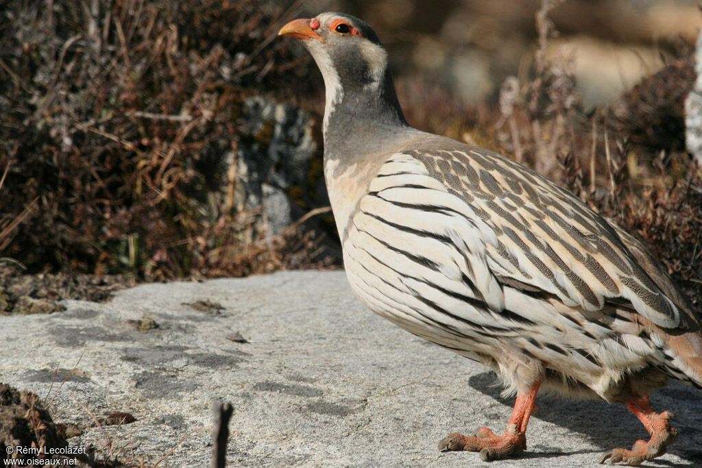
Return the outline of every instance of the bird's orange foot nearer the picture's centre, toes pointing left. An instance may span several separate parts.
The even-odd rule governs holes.
[[[505,435],[497,436],[487,427],[481,427],[470,436],[449,434],[439,442],[439,450],[470,450],[480,452],[483,461],[502,460],[512,455],[522,455],[527,450],[527,438],[517,432],[515,424],[509,424]]]

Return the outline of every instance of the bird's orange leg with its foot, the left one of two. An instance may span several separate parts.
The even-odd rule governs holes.
[[[453,433],[439,442],[439,450],[480,452],[480,457],[486,462],[501,460],[510,455],[522,455],[527,450],[527,437],[524,433],[527,432],[529,417],[534,413],[534,400],[540,386],[541,380],[526,394],[517,393],[515,408],[503,436],[497,436],[487,427],[481,427],[470,436]]]

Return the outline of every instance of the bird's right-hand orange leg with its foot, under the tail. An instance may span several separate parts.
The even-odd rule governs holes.
[[[636,441],[631,450],[613,448],[602,454],[600,463],[609,459],[613,464],[622,462],[636,466],[644,460],[652,460],[663,455],[665,447],[677,440],[677,429],[670,427],[670,422],[668,422],[675,415],[670,411],[656,413],[649,405],[647,394],[641,396],[632,392],[632,398],[626,403],[626,407],[644,424],[646,430],[651,434],[651,439],[648,442]]]

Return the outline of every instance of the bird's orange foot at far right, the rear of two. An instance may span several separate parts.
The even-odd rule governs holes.
[[[670,419],[674,417],[670,411],[663,411],[651,424],[651,439],[649,441],[638,440],[631,450],[625,448],[613,448],[603,453],[600,463],[607,460],[611,464],[625,463],[631,466],[638,466],[645,460],[653,460],[665,454],[666,447],[677,441],[677,429],[670,427]]]

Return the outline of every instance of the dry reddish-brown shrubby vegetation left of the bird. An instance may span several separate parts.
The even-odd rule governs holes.
[[[308,69],[273,41],[279,2],[11,3],[0,13],[2,256],[30,273],[153,281],[276,269],[317,250],[302,232],[263,248],[249,232],[257,213],[206,209],[242,100]]]

